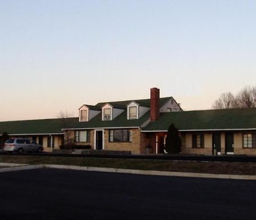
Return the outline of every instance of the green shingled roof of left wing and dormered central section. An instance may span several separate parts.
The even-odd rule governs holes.
[[[160,98],[160,107],[165,104],[171,97]],[[132,100],[109,102],[113,106],[123,106]],[[150,99],[134,100],[142,106],[150,105]],[[90,109],[100,109],[105,103],[97,105],[88,105]],[[150,111],[146,112],[140,119],[127,120],[127,111],[125,110],[119,116],[111,121],[102,121],[101,112],[93,117],[90,121],[79,122],[79,118],[69,119],[40,119],[26,121],[3,121],[0,122],[0,135],[3,132],[8,134],[56,134],[63,133],[61,129],[80,129],[80,128],[131,128],[142,126],[150,118]]]

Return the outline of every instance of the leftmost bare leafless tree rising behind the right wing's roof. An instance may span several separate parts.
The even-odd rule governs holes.
[[[222,108],[234,108],[236,106],[236,99],[231,92],[222,93],[220,98],[214,101],[212,108],[213,109],[222,109]]]

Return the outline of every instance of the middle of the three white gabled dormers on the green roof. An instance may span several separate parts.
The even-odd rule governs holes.
[[[118,115],[125,111],[123,105],[105,103],[101,107],[102,121],[109,121],[115,119]]]

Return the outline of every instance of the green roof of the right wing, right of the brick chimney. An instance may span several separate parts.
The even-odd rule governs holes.
[[[179,130],[256,129],[256,108],[160,113],[143,130],[167,130],[172,123]]]

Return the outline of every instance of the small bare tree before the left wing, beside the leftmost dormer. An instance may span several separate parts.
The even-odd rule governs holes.
[[[64,145],[72,145],[74,143],[74,132],[68,130],[75,123],[74,113],[68,111],[60,111],[57,115],[61,119],[61,128],[64,129]]]

